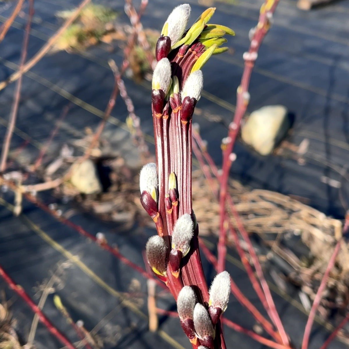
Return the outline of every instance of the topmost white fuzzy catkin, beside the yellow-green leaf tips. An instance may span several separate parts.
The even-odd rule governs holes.
[[[182,38],[190,17],[191,7],[188,3],[175,7],[166,22],[168,23],[167,36],[171,39],[171,46]],[[165,23],[166,23],[165,22]]]

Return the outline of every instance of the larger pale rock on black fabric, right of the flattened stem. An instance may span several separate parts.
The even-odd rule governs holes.
[[[272,153],[290,128],[287,108],[267,105],[255,110],[247,118],[241,135],[245,143],[261,155]]]

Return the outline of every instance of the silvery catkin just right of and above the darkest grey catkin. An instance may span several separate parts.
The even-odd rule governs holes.
[[[190,249],[190,241],[194,235],[194,222],[190,214],[180,216],[174,224],[172,232],[172,248],[180,250],[185,256]]]

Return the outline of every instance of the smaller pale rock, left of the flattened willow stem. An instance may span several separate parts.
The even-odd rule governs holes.
[[[73,164],[70,182],[83,194],[95,194],[102,191],[96,166],[89,159]]]

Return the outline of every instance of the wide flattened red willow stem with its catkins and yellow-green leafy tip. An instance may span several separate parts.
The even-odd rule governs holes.
[[[147,259],[176,299],[185,334],[193,348],[224,349],[220,315],[228,304],[229,274],[218,274],[208,290],[192,210],[192,117],[203,86],[200,68],[213,53],[226,51],[218,46],[227,41],[225,34],[234,34],[207,24],[214,10],[185,33],[190,6],[176,7],[158,39],[151,93],[156,164],[141,170],[140,190],[158,232],[147,243]]]

